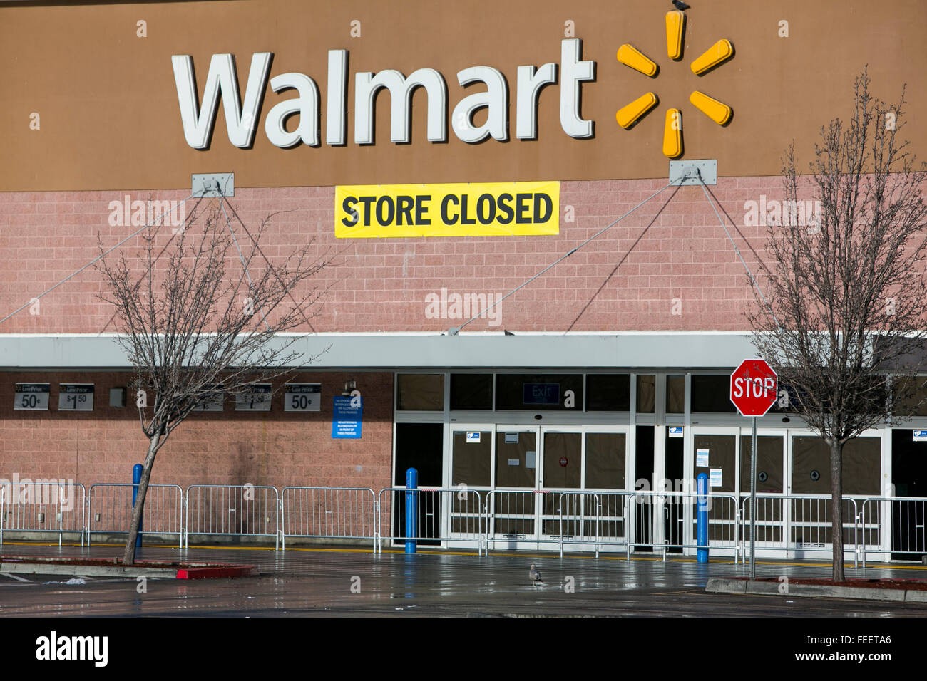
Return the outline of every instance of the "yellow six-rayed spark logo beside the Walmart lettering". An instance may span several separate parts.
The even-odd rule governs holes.
[[[685,32],[686,16],[681,11],[667,12],[667,57],[673,60],[682,58],[682,36]],[[697,76],[714,69],[734,55],[734,46],[730,40],[722,38],[692,62],[692,73]],[[623,44],[618,48],[618,61],[636,71],[640,71],[648,78],[655,78],[660,70],[653,59],[644,55],[630,44]],[[615,120],[625,130],[629,129],[638,120],[657,104],[657,98],[650,92],[641,95],[630,104],[618,109]],[[692,106],[714,120],[718,125],[724,125],[730,120],[733,110],[723,102],[717,101],[705,93],[694,91],[689,97]],[[667,121],[663,130],[663,153],[668,158],[682,156],[682,112],[678,108],[667,110]]]

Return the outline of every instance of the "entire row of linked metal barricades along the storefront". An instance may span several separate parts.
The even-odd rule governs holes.
[[[89,546],[94,535],[127,534],[132,521],[132,484],[35,480],[0,484],[0,545],[4,533],[68,534]],[[407,531],[406,503],[416,518]],[[699,549],[694,491],[370,487],[149,485],[141,533],[177,536],[287,537],[384,542],[415,540],[422,548],[472,547],[624,551]],[[743,560],[749,550],[749,495],[709,494],[708,548]],[[921,561],[927,556],[927,498],[844,497],[844,549],[854,565],[867,557]],[[832,551],[831,497],[756,495],[756,549],[783,558],[810,558]]]

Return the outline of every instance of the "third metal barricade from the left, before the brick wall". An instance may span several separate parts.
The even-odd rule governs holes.
[[[190,535],[273,536],[280,549],[277,488],[258,485],[191,485],[186,488],[184,547]]]

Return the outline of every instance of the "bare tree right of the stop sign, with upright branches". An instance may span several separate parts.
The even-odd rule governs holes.
[[[904,89],[890,107],[869,87],[864,70],[852,118],[821,128],[809,177],[796,170],[794,145],[783,158],[783,213],[792,215],[782,222],[792,226],[769,227],[768,300],[757,293],[748,315],[791,409],[830,448],[834,581],[844,581],[844,445],[912,414],[927,338],[924,168],[899,137]],[[820,210],[799,227],[803,189]]]

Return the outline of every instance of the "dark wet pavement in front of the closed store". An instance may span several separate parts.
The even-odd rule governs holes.
[[[5,544],[6,555],[112,557],[117,547]],[[927,604],[705,594],[709,577],[745,576],[730,561],[525,552],[373,554],[346,549],[168,549],[138,558],[248,563],[259,577],[182,581],[0,574],[0,616],[927,616]],[[534,563],[543,584],[534,585]],[[827,577],[824,562],[757,561],[757,576]],[[927,569],[849,567],[848,577],[927,579]],[[23,581],[27,579],[29,581]]]

